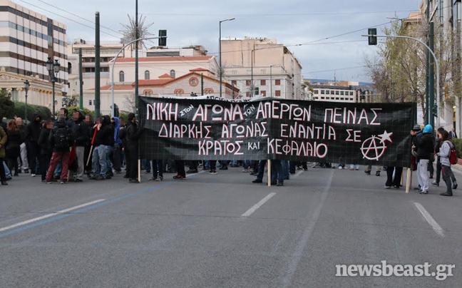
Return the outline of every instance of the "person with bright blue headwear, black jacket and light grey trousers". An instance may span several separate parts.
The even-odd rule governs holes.
[[[415,148],[414,148],[415,147]],[[428,194],[428,163],[430,162],[431,155],[434,154],[434,140],[433,140],[433,127],[426,125],[422,131],[422,135],[416,135],[414,141],[414,151],[417,163],[417,179],[419,180],[419,192],[421,194]]]

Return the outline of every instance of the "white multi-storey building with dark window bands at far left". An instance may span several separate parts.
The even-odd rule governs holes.
[[[30,83],[28,102],[52,106],[52,87],[46,70],[48,58],[61,64],[56,80],[56,105],[68,92],[66,25],[0,0],[0,88],[13,101],[25,100],[24,81]]]

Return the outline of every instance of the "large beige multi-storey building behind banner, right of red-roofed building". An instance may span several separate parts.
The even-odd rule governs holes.
[[[241,96],[304,99],[302,66],[275,38],[221,39],[223,78]]]

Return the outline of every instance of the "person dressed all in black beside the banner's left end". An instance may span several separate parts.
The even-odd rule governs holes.
[[[128,114],[128,124],[125,133],[125,154],[127,158],[127,174],[130,183],[138,181],[138,140],[143,134],[143,129],[138,128],[134,113]]]

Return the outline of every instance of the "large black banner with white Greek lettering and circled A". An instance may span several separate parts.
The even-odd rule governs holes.
[[[413,103],[146,98],[140,156],[308,160],[407,167]]]

